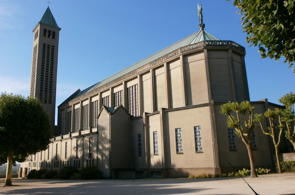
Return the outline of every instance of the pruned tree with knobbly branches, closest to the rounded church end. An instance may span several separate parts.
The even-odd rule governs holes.
[[[249,101],[241,103],[228,102],[221,105],[220,113],[228,115],[227,126],[229,128],[234,128],[236,134],[246,145],[251,167],[250,177],[257,177],[251,142],[251,133],[255,127],[255,123],[253,123],[253,109],[254,107],[251,106]],[[235,114],[236,116],[234,116]],[[244,124],[242,124],[243,122]]]

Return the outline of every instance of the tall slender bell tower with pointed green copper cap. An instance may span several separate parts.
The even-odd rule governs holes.
[[[49,6],[33,29],[30,97],[37,98],[55,125],[59,28]],[[54,132],[53,132],[54,133]]]

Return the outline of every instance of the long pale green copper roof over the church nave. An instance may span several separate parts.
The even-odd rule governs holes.
[[[94,84],[94,85],[88,87],[87,89],[84,89],[79,94],[77,94],[73,99],[75,99],[75,98],[77,98],[77,97],[97,88],[97,87],[100,87],[103,84],[107,84],[108,82],[113,81],[114,79],[117,79],[120,76],[125,75],[125,74],[127,74],[127,73],[161,57],[161,56],[169,54],[170,52],[173,52],[174,50],[177,50],[178,48],[188,46],[188,45],[191,45],[194,43],[199,43],[202,41],[220,41],[220,39],[216,38],[215,36],[206,32],[205,30],[199,30],[199,31],[189,35],[188,37],[185,37],[184,39],[181,39],[180,41],[168,46],[167,48],[165,48],[165,49],[163,49],[151,56],[148,56],[147,58],[125,68],[124,70],[121,70],[120,72],[108,77],[107,79],[102,80],[101,82]]]

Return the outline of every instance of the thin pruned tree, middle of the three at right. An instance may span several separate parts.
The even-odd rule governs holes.
[[[278,108],[276,108],[274,111],[268,109],[264,113],[264,115],[263,114],[255,114],[255,120],[254,120],[256,122],[259,122],[263,133],[272,138],[272,142],[273,142],[274,148],[275,148],[275,156],[276,156],[276,160],[278,163],[279,173],[282,173],[282,167],[281,167],[281,162],[280,162],[280,158],[279,158],[279,144],[281,142],[282,132],[284,130],[284,125],[282,124],[282,113],[283,113],[283,111]],[[268,123],[269,123],[269,127],[267,128],[268,132],[266,132],[266,130],[263,127],[262,122],[261,122],[262,119],[264,118],[264,116],[266,118],[268,118]],[[278,119],[278,121],[279,121],[278,126],[276,126],[276,124],[275,124],[276,119]],[[276,132],[277,128],[279,128],[279,130],[280,130],[278,137],[277,137],[277,132]]]

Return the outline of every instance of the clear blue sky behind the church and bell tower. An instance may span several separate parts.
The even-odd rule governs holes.
[[[246,43],[233,1],[226,0],[50,0],[61,28],[57,105],[77,89],[148,57],[199,30],[202,2],[205,30],[246,48],[251,101],[278,99],[295,91],[295,74],[283,59],[261,59]],[[0,0],[0,91],[29,95],[32,30],[47,0]]]

